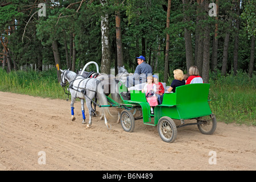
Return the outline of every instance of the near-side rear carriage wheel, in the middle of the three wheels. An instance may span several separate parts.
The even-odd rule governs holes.
[[[170,117],[165,116],[159,119],[158,134],[164,142],[174,142],[177,137],[177,127]]]

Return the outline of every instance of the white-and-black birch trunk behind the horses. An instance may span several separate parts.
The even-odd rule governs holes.
[[[100,0],[104,6],[106,0]],[[101,16],[101,73],[110,74],[110,46],[109,46],[109,15]]]

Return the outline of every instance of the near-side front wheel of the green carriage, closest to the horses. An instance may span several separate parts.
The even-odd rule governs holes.
[[[127,132],[133,132],[135,127],[133,114],[129,110],[123,110],[120,116],[121,125],[123,130]]]

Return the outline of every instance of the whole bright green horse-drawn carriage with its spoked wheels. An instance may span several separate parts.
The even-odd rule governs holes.
[[[154,115],[150,114],[150,105],[141,90],[130,90],[130,100],[124,100],[122,92],[127,88],[119,82],[119,94],[121,103],[117,103],[108,97],[113,106],[121,106],[125,110],[121,112],[121,125],[123,130],[133,132],[135,119],[131,109],[142,111],[145,125],[157,126],[158,133],[164,142],[174,142],[177,128],[187,125],[197,125],[201,133],[213,134],[217,121],[208,104],[209,84],[189,84],[176,88],[175,93],[164,93],[163,103],[154,107]],[[151,122],[154,117],[154,122]],[[172,119],[179,119],[181,125],[176,126]],[[185,123],[185,119],[196,119],[194,123]]]

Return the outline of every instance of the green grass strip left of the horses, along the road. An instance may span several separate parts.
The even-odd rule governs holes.
[[[0,69],[0,91],[28,94],[43,98],[67,98],[57,81],[56,71],[16,71],[7,74]]]

